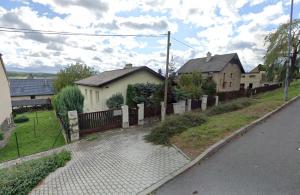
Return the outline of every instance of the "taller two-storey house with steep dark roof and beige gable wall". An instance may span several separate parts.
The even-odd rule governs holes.
[[[240,90],[241,75],[245,73],[237,53],[214,55],[191,59],[178,71],[178,75],[201,72],[204,78],[210,77],[217,84],[217,92]]]

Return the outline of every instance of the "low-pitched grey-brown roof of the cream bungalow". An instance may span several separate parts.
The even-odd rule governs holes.
[[[153,71],[152,69],[146,67],[146,66],[139,66],[139,67],[132,67],[132,68],[124,68],[124,69],[117,69],[117,70],[111,70],[111,71],[105,71],[101,72],[100,74],[90,76],[88,78],[76,81],[75,83],[78,85],[86,85],[86,86],[93,86],[93,87],[100,87],[105,84],[111,83],[115,80],[121,79],[123,77],[129,76],[132,73],[138,72],[138,71],[148,71],[154,76],[164,79],[164,77],[157,72]]]

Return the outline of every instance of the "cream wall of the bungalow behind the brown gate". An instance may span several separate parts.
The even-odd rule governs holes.
[[[138,71],[119,80],[113,81],[103,87],[89,87],[78,85],[84,96],[84,112],[96,112],[107,110],[106,101],[112,95],[121,93],[126,103],[126,92],[129,84],[136,83],[153,83],[161,84],[163,81],[147,71]],[[97,100],[97,92],[99,100]]]

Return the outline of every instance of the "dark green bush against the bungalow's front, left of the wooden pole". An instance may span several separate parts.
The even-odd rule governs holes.
[[[139,103],[144,103],[146,106],[154,104],[157,101],[157,91],[160,91],[161,85],[153,83],[137,83],[128,85],[126,104],[135,106]]]

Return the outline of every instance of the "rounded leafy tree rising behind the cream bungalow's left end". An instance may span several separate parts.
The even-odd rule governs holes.
[[[54,81],[55,92],[58,93],[62,88],[74,85],[75,81],[87,78],[96,74],[92,67],[85,64],[71,64],[57,73],[57,79]]]

